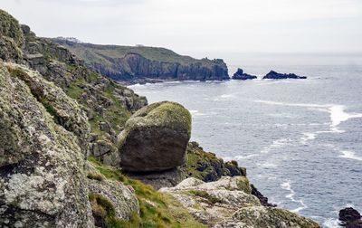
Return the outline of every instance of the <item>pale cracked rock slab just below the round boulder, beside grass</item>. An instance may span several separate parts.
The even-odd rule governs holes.
[[[245,176],[224,176],[209,183],[187,178],[175,187],[159,191],[173,195],[201,223],[213,225],[241,207],[260,205],[258,198],[245,187],[248,183]]]

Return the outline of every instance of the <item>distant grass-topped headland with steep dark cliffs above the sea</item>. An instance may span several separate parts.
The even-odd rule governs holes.
[[[223,60],[196,60],[164,48],[74,43],[53,39],[83,59],[90,68],[117,81],[228,80]]]

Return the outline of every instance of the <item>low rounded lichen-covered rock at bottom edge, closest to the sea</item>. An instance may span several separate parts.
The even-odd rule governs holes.
[[[319,224],[275,207],[244,207],[214,228],[319,228]]]

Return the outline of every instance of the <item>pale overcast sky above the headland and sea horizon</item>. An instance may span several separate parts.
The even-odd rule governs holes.
[[[362,0],[0,0],[39,36],[207,52],[362,52]]]

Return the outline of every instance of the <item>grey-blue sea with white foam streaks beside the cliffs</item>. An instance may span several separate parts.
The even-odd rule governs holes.
[[[229,68],[235,70],[236,64]],[[362,212],[362,65],[248,65],[307,80],[183,81],[130,88],[173,100],[193,116],[192,140],[247,167],[272,203],[338,227],[338,211]]]

